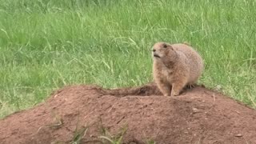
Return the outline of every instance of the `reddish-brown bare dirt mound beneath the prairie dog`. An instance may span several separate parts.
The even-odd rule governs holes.
[[[6,144],[108,143],[120,133],[124,143],[256,143],[256,110],[199,86],[178,97],[161,96],[154,84],[67,86],[0,120]]]

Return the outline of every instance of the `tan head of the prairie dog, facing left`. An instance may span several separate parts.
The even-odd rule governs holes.
[[[172,58],[175,54],[174,48],[166,42],[157,42],[153,46],[152,56],[154,60],[161,58]]]

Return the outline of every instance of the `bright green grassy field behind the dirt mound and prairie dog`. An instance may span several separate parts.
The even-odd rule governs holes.
[[[255,0],[0,0],[0,118],[66,85],[152,81],[154,42],[190,42],[200,83],[256,107]]]

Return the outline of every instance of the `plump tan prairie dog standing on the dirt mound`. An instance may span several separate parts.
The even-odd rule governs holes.
[[[193,86],[202,74],[202,58],[187,44],[157,42],[152,56],[154,82],[164,96],[179,95],[185,86]]]

